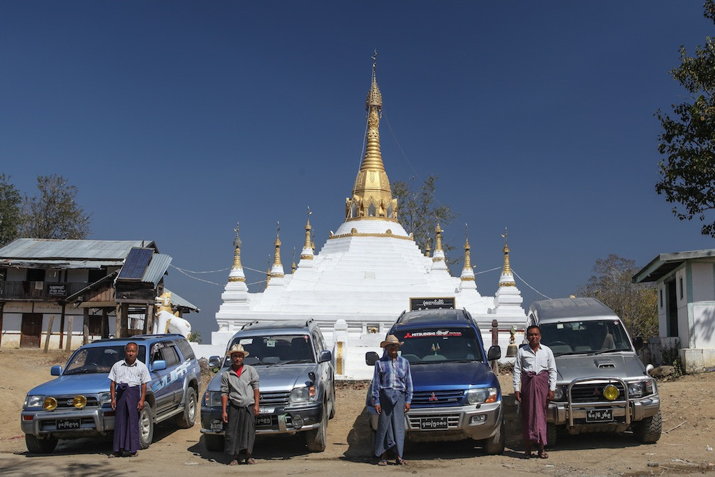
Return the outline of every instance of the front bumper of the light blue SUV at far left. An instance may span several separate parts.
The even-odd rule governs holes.
[[[57,438],[104,434],[114,430],[114,411],[99,408],[82,411],[22,411],[20,427],[26,434],[52,435]]]

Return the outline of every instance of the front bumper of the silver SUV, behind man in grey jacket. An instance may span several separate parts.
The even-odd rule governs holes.
[[[262,408],[265,411],[265,408]],[[201,409],[201,432],[223,436],[225,424],[221,420],[221,408]],[[269,423],[270,421],[270,423]],[[262,412],[256,418],[256,434],[282,434],[310,431],[320,427],[322,406],[273,408],[272,412]]]

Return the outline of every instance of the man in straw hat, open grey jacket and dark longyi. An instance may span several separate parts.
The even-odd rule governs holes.
[[[256,438],[256,421],[260,407],[258,401],[258,373],[243,358],[248,351],[240,344],[229,348],[226,356],[231,358],[231,367],[221,375],[221,407],[225,428],[225,452],[233,457],[229,465],[256,463],[251,457]],[[243,457],[240,456],[244,452]]]

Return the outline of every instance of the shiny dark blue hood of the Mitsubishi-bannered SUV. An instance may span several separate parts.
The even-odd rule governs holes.
[[[429,363],[410,366],[415,391],[464,389],[474,385],[491,385],[495,376],[484,363]]]

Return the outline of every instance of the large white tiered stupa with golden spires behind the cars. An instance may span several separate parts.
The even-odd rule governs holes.
[[[366,101],[367,147],[355,179],[352,195],[345,199],[345,219],[325,246],[315,253],[311,240],[310,212],[305,225],[305,245],[297,268],[285,274],[280,263],[280,238],[275,240],[275,258],[264,291],[250,293],[240,259],[238,228],[234,266],[216,313],[219,331],[212,333],[215,346],[225,346],[231,336],[250,321],[315,319],[327,345],[337,355],[337,374],[343,378],[369,378],[372,369],[364,363],[365,351],[379,343],[395,319],[410,306],[465,308],[478,321],[485,345],[498,319],[503,353],[511,326],[522,328],[526,314],[521,293],[511,280],[508,248],[505,272],[496,299],[482,296],[474,281],[470,246],[465,241],[461,276],[451,276],[442,248],[442,229],[435,224],[435,251],[423,253],[398,222],[398,202],[393,199],[388,174],[380,152],[380,110],[383,99],[375,79]],[[310,199],[310,198],[307,198]],[[505,273],[508,271],[508,275]],[[415,298],[419,298],[416,300]]]

